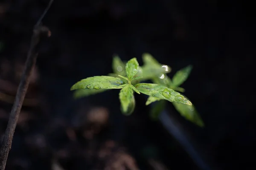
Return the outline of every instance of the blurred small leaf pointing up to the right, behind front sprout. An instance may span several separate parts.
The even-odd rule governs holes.
[[[192,65],[188,65],[185,68],[177,71],[175,75],[172,77],[172,86],[179,86],[189,77],[189,74],[192,70]]]

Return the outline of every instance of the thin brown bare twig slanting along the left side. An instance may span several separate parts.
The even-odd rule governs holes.
[[[53,0],[50,0],[47,8],[44,10],[44,13],[42,14],[38,22],[35,24],[33,29],[31,45],[30,45],[28,56],[26,59],[25,68],[24,68],[22,77],[20,79],[20,84],[17,90],[14,104],[12,106],[12,111],[9,116],[9,122],[3,137],[2,145],[1,145],[0,170],[5,170],[5,167],[6,167],[6,161],[8,158],[9,150],[11,149],[11,146],[12,146],[12,139],[13,139],[17,121],[19,118],[20,110],[23,105],[23,100],[25,98],[27,88],[29,86],[30,76],[32,74],[33,69],[35,68],[35,62],[38,56],[40,40],[42,37],[50,36],[49,28],[47,28],[46,26],[42,26],[41,20],[49,10],[49,7],[51,6],[52,2]]]

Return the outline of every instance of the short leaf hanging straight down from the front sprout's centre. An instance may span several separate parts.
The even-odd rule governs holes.
[[[122,113],[130,115],[135,108],[135,99],[131,85],[125,85],[125,87],[121,89],[119,99]]]

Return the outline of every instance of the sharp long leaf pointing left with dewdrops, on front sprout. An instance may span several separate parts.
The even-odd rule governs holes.
[[[94,76],[82,79],[74,84],[70,90],[76,89],[118,89],[123,87],[123,82],[117,77],[111,76]]]

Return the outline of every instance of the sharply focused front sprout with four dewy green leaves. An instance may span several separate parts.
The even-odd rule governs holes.
[[[159,68],[158,68],[159,69]],[[152,70],[152,69],[151,69]],[[123,75],[124,72],[119,70]],[[169,102],[176,102],[185,105],[192,105],[183,95],[160,84],[152,83],[134,83],[136,80],[143,79],[141,77],[142,68],[136,58],[130,59],[125,66],[126,77],[118,75],[112,76],[94,76],[82,79],[74,84],[70,90],[86,89],[90,90],[108,90],[108,89],[121,89],[119,99],[121,102],[121,111],[126,115],[130,115],[135,108],[134,91],[137,94],[146,94],[152,99],[164,99]],[[114,76],[114,75],[113,75]],[[120,77],[120,78],[119,78]]]

